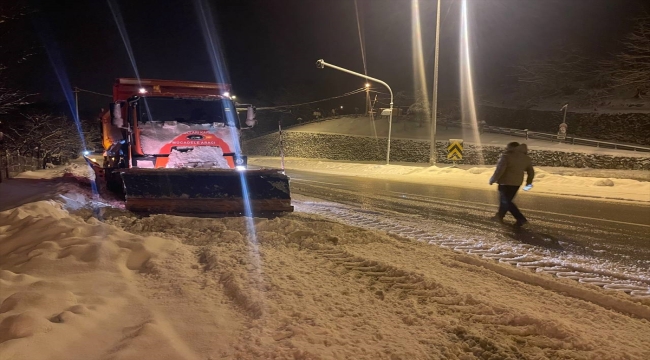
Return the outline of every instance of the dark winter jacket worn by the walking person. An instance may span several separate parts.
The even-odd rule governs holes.
[[[501,155],[490,184],[520,186],[524,179],[524,171],[528,174],[526,184],[532,184],[535,177],[533,162],[527,155],[528,146],[521,144],[514,149],[506,149]]]

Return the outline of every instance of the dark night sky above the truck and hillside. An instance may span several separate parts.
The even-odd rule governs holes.
[[[111,0],[119,7],[141,77],[215,81],[194,0]],[[335,96],[364,81],[316,60],[363,72],[354,0],[207,0],[234,92],[253,100],[278,89],[296,99]],[[421,0],[428,84],[435,38],[435,1]],[[480,92],[498,91],[518,61],[559,47],[605,57],[642,15],[642,0],[469,0],[474,74]],[[410,0],[358,0],[368,74],[394,91],[413,91]],[[111,93],[117,77],[135,72],[107,1],[34,1],[31,18],[42,54],[26,86],[42,98],[64,97],[45,48],[60,54],[69,82]],[[647,8],[645,10],[650,10]],[[442,0],[440,94],[458,93],[460,0]],[[430,88],[430,85],[428,85]],[[302,96],[302,97],[301,97]],[[82,95],[82,107],[109,99]]]

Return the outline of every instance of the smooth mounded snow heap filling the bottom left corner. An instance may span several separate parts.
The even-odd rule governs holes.
[[[1,358],[186,358],[133,284],[172,242],[84,222],[52,202],[0,213],[0,224]]]

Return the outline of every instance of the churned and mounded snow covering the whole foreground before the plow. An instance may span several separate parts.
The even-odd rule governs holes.
[[[650,311],[623,294],[313,215],[139,218],[66,190],[86,206],[0,212],[2,360],[650,357],[647,320],[557,289]]]

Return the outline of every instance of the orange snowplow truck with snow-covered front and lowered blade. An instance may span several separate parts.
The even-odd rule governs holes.
[[[100,115],[103,160],[85,156],[100,191],[122,193],[134,212],[293,211],[283,171],[248,169],[239,140],[255,109],[229,92],[228,84],[117,79]]]

